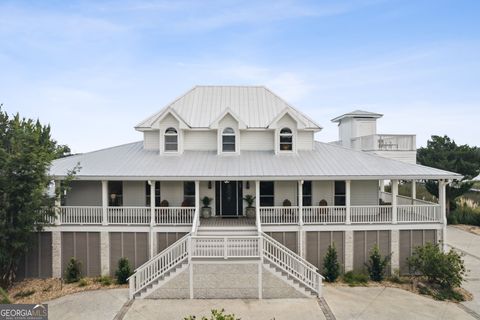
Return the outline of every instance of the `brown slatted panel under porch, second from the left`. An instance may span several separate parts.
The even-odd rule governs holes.
[[[100,233],[62,232],[62,275],[72,257],[80,261],[82,276],[99,276]]]

